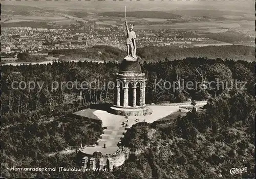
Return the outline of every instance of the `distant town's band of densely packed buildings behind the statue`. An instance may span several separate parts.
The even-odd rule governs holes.
[[[202,37],[195,31],[157,29],[136,30],[137,46],[174,46],[188,48],[207,45],[232,45],[232,43]],[[54,49],[87,48],[93,45],[110,45],[125,48],[124,27],[112,25],[100,27],[94,24],[81,27],[73,25],[72,29],[46,29],[31,27],[2,28],[2,57],[17,57],[21,52],[47,53]],[[248,35],[249,38],[252,36]],[[249,41],[252,43],[253,41]],[[242,43],[242,42],[240,42]]]

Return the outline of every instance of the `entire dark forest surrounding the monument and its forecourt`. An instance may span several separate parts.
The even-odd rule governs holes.
[[[116,56],[119,56],[119,52]],[[120,55],[121,56],[121,55]],[[185,58],[141,63],[147,78],[146,104],[208,100],[205,112],[193,110],[176,120],[138,123],[127,131],[123,145],[134,154],[112,173],[10,172],[10,166],[79,166],[75,152],[51,155],[80,144],[93,144],[102,133],[101,123],[74,116],[73,108],[111,104],[108,88],[52,88],[52,82],[114,81],[117,62],[53,62],[53,64],[2,66],[1,175],[3,177],[230,177],[232,166],[254,163],[254,63],[207,58]],[[203,85],[217,79],[231,84],[247,82],[245,90],[154,88],[155,80]],[[13,89],[12,82],[38,82]],[[15,88],[17,88],[17,84]],[[21,87],[24,87],[22,83]],[[191,135],[193,134],[193,135]],[[225,136],[225,137],[224,137]],[[189,149],[188,149],[189,148]],[[140,155],[136,155],[140,152]],[[210,172],[209,172],[210,169]],[[247,174],[247,175],[246,175]],[[239,177],[240,175],[237,175]],[[236,176],[234,176],[236,177]],[[241,176],[240,176],[241,177]]]

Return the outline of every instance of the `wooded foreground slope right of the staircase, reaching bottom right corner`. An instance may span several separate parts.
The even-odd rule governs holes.
[[[239,111],[246,112],[240,115]],[[122,144],[136,151],[114,171],[119,178],[253,178],[255,101],[240,92],[208,101],[176,120],[138,123]],[[237,111],[237,112],[236,112]],[[161,124],[162,125],[159,125]],[[164,124],[164,125],[163,125]],[[234,167],[247,172],[231,175]]]

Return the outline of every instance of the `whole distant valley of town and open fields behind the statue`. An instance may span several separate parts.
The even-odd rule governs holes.
[[[137,48],[255,46],[255,32],[250,28],[254,25],[252,14],[233,12],[230,16],[230,12],[206,10],[200,16],[197,11],[188,11],[189,15],[182,13],[185,12],[127,12],[127,22],[135,24]],[[5,5],[1,17],[3,61],[16,61],[20,53],[50,58],[48,53],[52,50],[86,49],[95,45],[126,49],[123,12],[63,11],[26,6],[16,6],[14,11],[13,6]]]

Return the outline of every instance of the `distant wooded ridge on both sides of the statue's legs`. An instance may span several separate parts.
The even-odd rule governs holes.
[[[101,52],[101,53],[99,53]],[[119,61],[125,56],[123,50],[112,46],[95,45],[86,49],[61,49],[49,52],[49,55],[65,55],[71,60],[88,58],[100,61]],[[254,47],[243,45],[203,46],[193,48],[176,48],[170,46],[145,46],[137,49],[139,60],[147,62],[173,61],[186,58],[227,59],[255,61]]]

